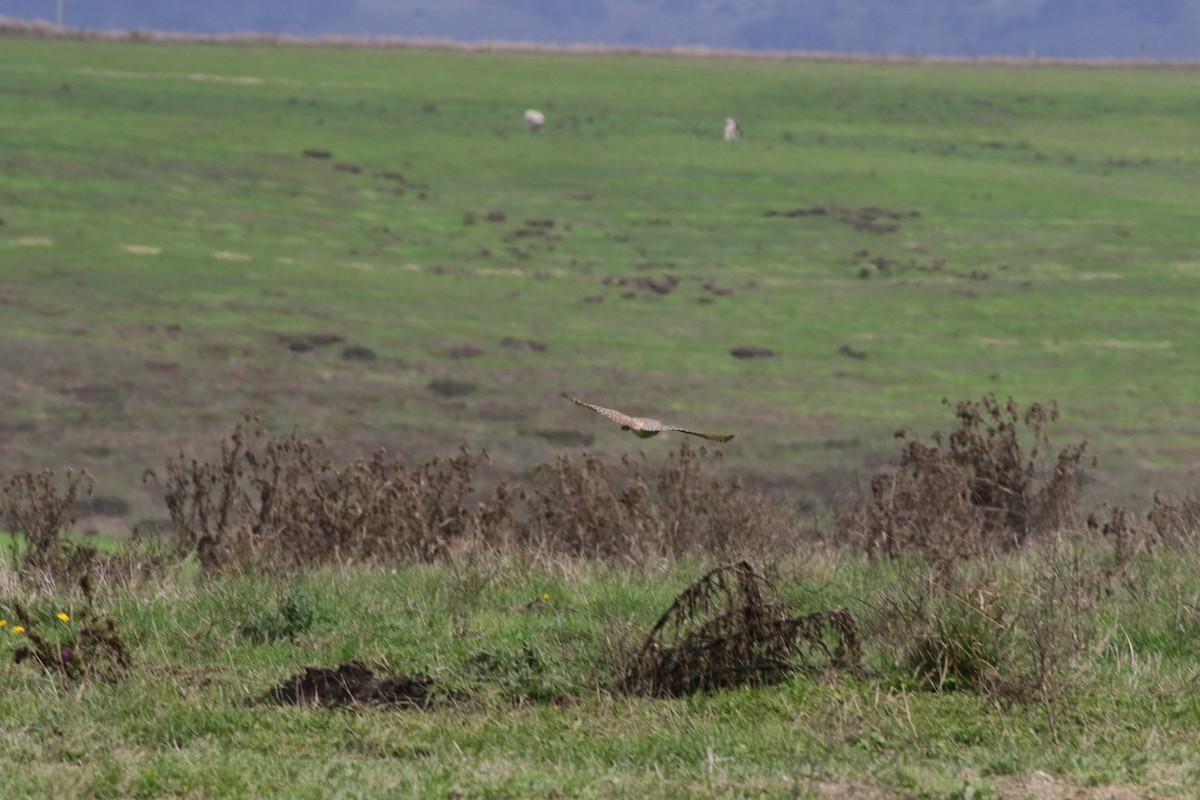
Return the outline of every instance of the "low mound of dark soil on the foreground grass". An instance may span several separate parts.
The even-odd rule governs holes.
[[[439,697],[430,690],[437,680],[428,675],[377,676],[360,661],[347,661],[336,669],[305,667],[263,696],[262,702],[276,705],[398,705],[430,709]],[[443,694],[443,697],[445,697]]]

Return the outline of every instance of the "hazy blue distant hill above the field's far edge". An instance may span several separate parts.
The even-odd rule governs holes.
[[[1200,58],[1200,0],[0,0],[68,28],[902,55]]]

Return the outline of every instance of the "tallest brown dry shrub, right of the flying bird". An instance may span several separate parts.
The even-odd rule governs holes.
[[[943,401],[949,405],[948,401]],[[1034,403],[1021,413],[992,395],[961,401],[958,427],[931,441],[906,439],[895,470],[871,480],[871,499],[840,515],[839,536],[876,555],[918,552],[952,570],[964,559],[1012,551],[1069,524],[1087,444],[1062,449],[1046,469],[1046,427],[1058,409]],[[1022,435],[1024,428],[1024,435]],[[1022,438],[1030,443],[1026,450]]]

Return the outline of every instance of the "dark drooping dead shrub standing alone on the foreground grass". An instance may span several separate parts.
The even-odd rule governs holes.
[[[716,567],[676,597],[625,670],[626,692],[685,697],[775,684],[798,669],[858,662],[858,630],[844,609],[791,616],[745,561]]]

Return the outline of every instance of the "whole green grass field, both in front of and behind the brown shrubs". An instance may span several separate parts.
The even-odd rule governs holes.
[[[896,428],[995,392],[1056,399],[1055,441],[1100,458],[1088,501],[1144,507],[1195,477],[1198,74],[4,40],[0,474],[88,469],[83,527],[120,531],[167,515],[146,468],[247,411],[338,459],[486,449],[481,481],[674,451],[569,390],[736,433],[720,469],[804,522]],[[55,645],[86,616],[0,547],[6,798],[1200,789],[1194,542],[1066,535],[936,591],[908,559],[805,549],[763,569],[794,613],[847,609],[862,662],[682,700],[614,681],[712,554],[143,560],[97,587],[131,660],[109,682],[13,662],[17,603]],[[990,672],[930,691],[935,634]],[[457,699],[258,702],[348,660]]]

